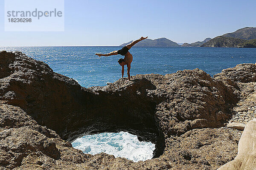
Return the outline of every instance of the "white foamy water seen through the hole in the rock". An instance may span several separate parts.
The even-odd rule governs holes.
[[[123,131],[85,135],[72,142],[72,145],[84,153],[95,155],[104,152],[134,162],[152,159],[155,150],[155,144],[140,142],[136,135]]]

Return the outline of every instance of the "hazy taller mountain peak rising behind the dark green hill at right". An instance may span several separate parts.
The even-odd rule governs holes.
[[[239,38],[243,40],[256,39],[256,27],[245,27],[232,33],[222,35],[224,37]]]

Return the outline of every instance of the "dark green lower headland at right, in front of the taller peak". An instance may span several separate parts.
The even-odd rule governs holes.
[[[218,36],[204,43],[201,47],[256,48],[256,40]]]

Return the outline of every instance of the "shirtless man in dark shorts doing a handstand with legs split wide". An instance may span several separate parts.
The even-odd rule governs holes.
[[[141,37],[139,40],[135,40],[133,42],[131,42],[128,45],[125,45],[121,50],[117,50],[117,51],[112,51],[110,53],[107,54],[99,54],[96,53],[95,55],[101,57],[101,56],[113,56],[113,55],[117,55],[120,54],[122,56],[125,56],[125,58],[120,58],[118,60],[119,65],[122,66],[122,78],[124,78],[124,72],[125,72],[125,65],[127,65],[127,76],[128,76],[128,80],[131,80],[131,76],[130,76],[130,69],[131,69],[131,62],[132,62],[132,55],[129,52],[129,50],[131,49],[132,46],[134,46],[136,43],[145,40],[148,37]]]

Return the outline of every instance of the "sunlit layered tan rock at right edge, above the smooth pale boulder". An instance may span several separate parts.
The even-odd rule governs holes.
[[[239,125],[238,128],[244,127],[256,116],[256,65],[239,64],[234,68],[224,69],[214,77],[232,81],[233,83],[230,85],[239,91],[240,100],[234,108],[230,109],[232,118],[229,125],[234,125],[234,127]]]

